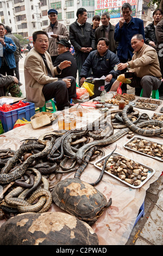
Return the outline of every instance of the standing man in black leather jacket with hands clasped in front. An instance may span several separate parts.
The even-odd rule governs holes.
[[[70,25],[70,41],[76,52],[78,74],[87,56],[95,50],[95,35],[90,23],[86,22],[87,12],[84,8],[77,10],[77,20]]]

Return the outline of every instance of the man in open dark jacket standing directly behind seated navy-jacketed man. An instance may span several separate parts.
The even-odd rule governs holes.
[[[109,43],[109,50],[111,52],[116,53],[116,49],[118,47],[118,42],[114,40],[114,31],[115,31],[115,26],[111,25],[110,21],[110,15],[109,13],[103,13],[101,16],[101,22],[102,26],[99,26],[96,29],[95,32],[95,46],[97,46],[97,41],[99,38],[108,38],[110,43]]]

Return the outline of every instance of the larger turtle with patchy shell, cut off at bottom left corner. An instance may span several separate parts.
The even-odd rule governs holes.
[[[28,212],[4,222],[0,245],[99,245],[84,221],[65,212]]]

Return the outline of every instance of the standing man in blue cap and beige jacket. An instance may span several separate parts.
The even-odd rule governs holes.
[[[51,21],[50,25],[46,28],[47,33],[52,33],[51,37],[49,38],[49,48],[48,52],[51,55],[52,62],[55,61],[55,59],[58,56],[57,52],[57,41],[60,41],[61,39],[69,40],[69,32],[66,28],[66,26],[57,20],[58,11],[55,9],[48,10],[48,17]]]

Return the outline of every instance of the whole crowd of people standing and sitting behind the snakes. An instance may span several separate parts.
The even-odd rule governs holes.
[[[101,17],[95,15],[92,25],[87,22],[85,8],[79,8],[76,15],[77,19],[68,31],[57,20],[58,11],[50,9],[46,31],[33,33],[34,47],[24,62],[28,101],[43,107],[45,101],[54,97],[58,110],[62,110],[77,96],[77,83],[82,86],[87,77],[105,76],[106,92],[116,91],[117,76],[126,71],[131,74],[128,78],[131,80],[130,86],[135,88],[135,95],[140,96],[143,89],[142,96],[150,97],[152,90],[159,89],[160,96],[163,96],[161,9],[154,10],[153,22],[147,27],[143,26],[141,19],[132,17],[129,3],[122,5],[122,18],[116,26],[110,23],[108,12],[102,13]],[[7,32],[2,23],[0,36],[3,46],[0,74],[13,78],[13,71],[18,69],[16,49],[20,46],[16,45],[14,35],[11,37],[11,31]],[[74,54],[70,51],[71,47]],[[77,72],[79,81],[76,81]],[[19,77],[17,83],[18,80]],[[4,94],[4,86],[2,91],[0,93]],[[127,84],[123,83],[122,92],[127,93]]]

